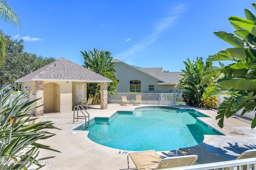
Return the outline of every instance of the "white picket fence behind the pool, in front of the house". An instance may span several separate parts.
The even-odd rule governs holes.
[[[136,95],[140,94],[143,104],[185,104],[182,93],[118,93],[117,95],[108,96],[108,103],[122,103],[122,97],[126,96],[127,100],[132,102],[136,100]]]

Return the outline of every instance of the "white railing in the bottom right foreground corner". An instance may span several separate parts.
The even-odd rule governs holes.
[[[208,164],[197,164],[176,168],[166,168],[166,170],[218,170],[219,168],[230,170],[252,170],[252,165],[254,165],[254,168],[256,167],[256,158],[246,158],[240,160],[228,160]]]

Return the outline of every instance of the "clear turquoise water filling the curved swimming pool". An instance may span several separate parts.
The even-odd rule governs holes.
[[[119,112],[109,122],[92,123],[88,137],[101,145],[123,150],[176,150],[192,147],[204,140],[204,135],[221,135],[212,131],[196,117],[205,117],[193,110],[173,108],[141,108]]]

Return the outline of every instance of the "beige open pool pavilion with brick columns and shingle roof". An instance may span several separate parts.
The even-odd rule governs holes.
[[[16,82],[21,83],[22,92],[28,93],[30,98],[41,98],[35,107],[45,105],[36,108],[34,115],[42,116],[44,113],[72,112],[76,96],[83,100],[87,97],[86,83],[100,83],[101,109],[107,109],[108,82],[112,80],[62,57]]]

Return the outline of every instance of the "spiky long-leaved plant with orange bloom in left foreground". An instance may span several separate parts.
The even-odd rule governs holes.
[[[29,117],[28,113],[35,109],[32,105],[38,99],[25,100],[28,95],[20,94],[12,100],[9,87],[0,90],[0,169],[25,170],[32,164],[41,168],[44,166],[43,160],[54,156],[38,159],[39,149],[59,151],[38,143],[38,140],[55,135],[46,129],[58,128],[50,121],[34,123],[37,118]]]

